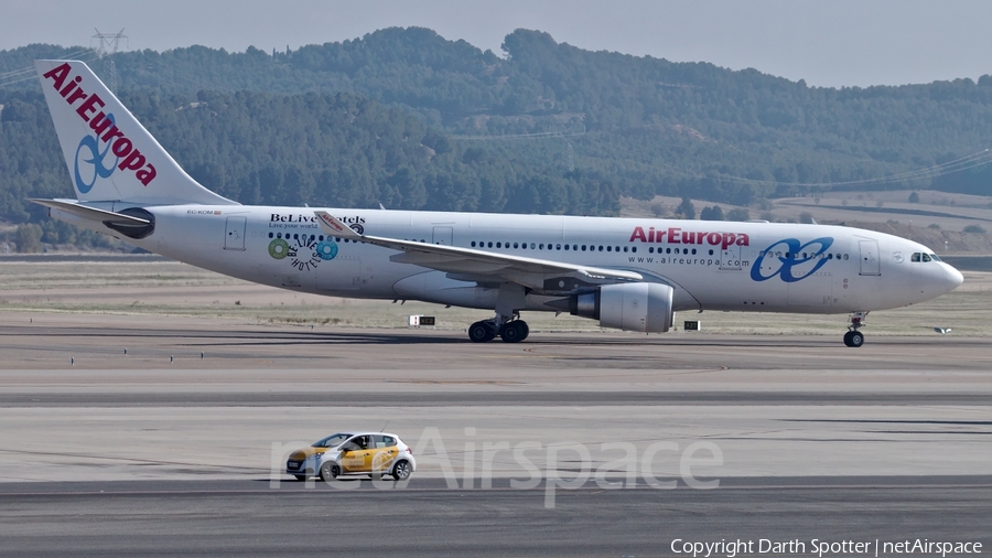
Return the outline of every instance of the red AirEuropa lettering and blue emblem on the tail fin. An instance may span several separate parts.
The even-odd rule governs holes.
[[[68,63],[45,72],[45,79],[52,81],[52,87],[58,95],[74,108],[84,122],[94,131],[93,136],[86,136],[76,148],[75,181],[76,187],[82,193],[93,189],[97,178],[107,179],[116,170],[134,173],[134,178],[142,185],[148,186],[155,179],[155,168],[149,163],[127,135],[117,127],[114,115],[104,112],[106,106],[104,99],[97,94],[87,94],[83,88],[83,76],[72,76],[72,67]],[[88,85],[87,85],[88,87]],[[105,146],[101,148],[100,142]],[[85,150],[85,152],[84,152]],[[79,162],[93,165],[93,176],[80,172]],[[88,159],[86,158],[88,155]],[[114,157],[114,161],[109,159]]]

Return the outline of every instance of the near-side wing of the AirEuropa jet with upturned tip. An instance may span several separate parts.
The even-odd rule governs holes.
[[[509,281],[536,290],[560,292],[570,291],[580,283],[603,285],[644,279],[640,273],[634,271],[364,235],[356,233],[327,212],[316,211],[314,215],[326,235],[400,250],[401,254],[389,259],[445,271],[462,280]]]

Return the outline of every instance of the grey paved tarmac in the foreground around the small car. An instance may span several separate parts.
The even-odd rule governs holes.
[[[473,344],[0,312],[0,555],[686,556],[763,538],[806,545],[764,555],[816,555],[813,539],[928,537],[988,552],[988,339],[840,333]],[[413,477],[283,474],[290,451],[347,430],[399,434]]]

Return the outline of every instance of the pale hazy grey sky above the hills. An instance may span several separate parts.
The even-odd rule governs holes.
[[[984,0],[0,0],[0,50],[90,44],[121,28],[130,50],[244,51],[419,25],[502,55],[515,29],[599,51],[712,62],[809,85],[901,85],[992,74]]]

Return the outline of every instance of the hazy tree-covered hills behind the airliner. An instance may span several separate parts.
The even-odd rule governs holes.
[[[71,195],[37,81],[19,72],[69,55],[106,78],[91,51],[0,52],[0,219],[40,221],[24,197]],[[527,30],[497,55],[417,28],[115,63],[122,100],[163,146],[244,203],[610,215],[621,195],[748,205],[831,190],[984,195],[992,184],[981,164],[992,160],[988,75],[817,88]],[[884,176],[895,178],[865,182]]]

